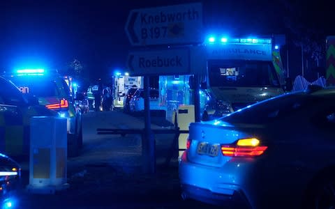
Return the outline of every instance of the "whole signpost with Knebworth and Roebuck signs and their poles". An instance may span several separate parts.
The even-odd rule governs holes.
[[[187,3],[156,8],[131,10],[126,22],[126,33],[131,45],[144,47],[161,45],[161,49],[144,49],[130,52],[128,68],[130,75],[144,75],[144,137],[142,137],[143,166],[147,173],[156,171],[155,139],[151,132],[149,107],[149,75],[182,75],[194,74],[192,70],[202,68],[206,61],[200,63],[205,56],[196,56],[202,38],[202,4]],[[169,47],[168,47],[169,45]],[[188,45],[173,47],[173,45]],[[204,51],[204,50],[203,50]],[[195,114],[200,121],[199,86],[195,85]],[[197,87],[198,86],[198,87]]]

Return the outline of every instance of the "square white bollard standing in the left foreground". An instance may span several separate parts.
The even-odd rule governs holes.
[[[31,118],[29,185],[36,194],[54,194],[69,187],[67,173],[66,118]]]

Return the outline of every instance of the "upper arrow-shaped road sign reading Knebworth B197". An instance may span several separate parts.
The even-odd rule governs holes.
[[[131,10],[126,33],[133,46],[202,42],[202,4]]]

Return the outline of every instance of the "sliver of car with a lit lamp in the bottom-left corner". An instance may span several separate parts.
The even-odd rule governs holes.
[[[21,187],[20,165],[0,153],[0,207],[20,208],[15,201],[15,195]]]

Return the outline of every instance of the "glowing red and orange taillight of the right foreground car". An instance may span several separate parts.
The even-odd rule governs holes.
[[[259,146],[260,140],[256,138],[239,139],[236,144],[221,145],[221,152],[230,157],[254,157],[264,153],[267,146]]]

